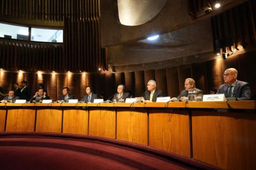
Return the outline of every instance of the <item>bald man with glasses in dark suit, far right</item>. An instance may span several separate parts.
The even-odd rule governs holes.
[[[235,97],[237,100],[250,100],[251,89],[249,83],[237,80],[237,70],[227,69],[223,74],[225,84],[222,84],[217,94],[225,94],[226,98]]]

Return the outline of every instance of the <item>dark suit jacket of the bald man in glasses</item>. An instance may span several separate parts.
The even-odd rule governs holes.
[[[228,97],[228,87],[227,83],[222,84],[217,91],[217,94],[225,94],[225,97]],[[237,100],[250,100],[251,99],[251,89],[249,83],[244,81],[237,80],[236,86],[233,90],[233,96]]]

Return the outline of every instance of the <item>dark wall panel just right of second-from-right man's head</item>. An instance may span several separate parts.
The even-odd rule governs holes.
[[[204,94],[207,92],[205,83],[205,65],[204,63],[191,64],[191,75],[196,82],[196,88],[203,90]]]

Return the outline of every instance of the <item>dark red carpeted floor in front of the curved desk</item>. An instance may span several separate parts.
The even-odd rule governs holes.
[[[84,135],[0,133],[1,169],[215,169],[132,143]]]

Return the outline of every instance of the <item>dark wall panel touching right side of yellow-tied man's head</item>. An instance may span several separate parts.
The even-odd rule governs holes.
[[[163,96],[168,95],[167,91],[167,78],[166,78],[166,69],[156,70],[156,86],[158,89],[163,91]]]

